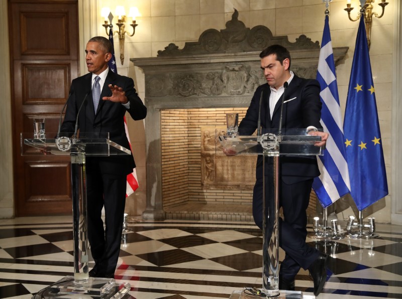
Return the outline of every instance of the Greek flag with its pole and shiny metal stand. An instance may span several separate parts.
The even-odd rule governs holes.
[[[328,8],[329,3],[332,2],[332,0],[323,0],[323,2],[325,2],[326,4],[326,9],[324,12],[325,26],[321,43],[317,80],[319,81],[321,86],[320,98],[323,102],[323,107],[325,106],[326,109],[325,112],[322,112],[322,119],[320,122],[323,124],[323,127],[330,132],[330,138],[332,142],[331,145],[327,143],[327,150],[324,154],[324,157],[320,157],[317,159],[320,167],[321,176],[320,178],[314,179],[313,189],[316,192],[317,199],[323,207],[323,223],[322,225],[320,225],[320,218],[314,217],[314,232],[310,233],[309,237],[313,239],[327,241],[339,240],[344,237],[343,234],[339,233],[337,219],[332,220],[332,225],[328,226],[328,206],[334,204],[337,199],[349,192],[349,179],[343,179],[343,182],[345,182],[343,184],[336,185],[334,183],[334,178],[337,178],[339,176],[343,178],[344,174],[346,174],[347,177],[347,167],[345,159],[337,164],[338,169],[335,169],[333,166],[328,165],[330,161],[332,161],[333,159],[335,160],[335,157],[339,157],[339,155],[335,154],[338,151],[337,149],[335,150],[335,147],[342,147],[337,146],[337,144],[343,144],[343,131],[340,130],[341,114],[339,106],[338,87],[336,84],[336,73],[335,63],[333,60],[331,34],[329,30],[330,11]],[[328,96],[329,94],[331,94],[332,97]],[[333,107],[333,109],[330,109],[330,107]],[[338,107],[338,109],[334,107]],[[331,124],[333,123],[337,123],[338,126],[331,126]],[[335,156],[332,157],[332,154],[335,154]],[[345,155],[341,153],[341,156],[344,157]],[[339,167],[341,169],[339,169]],[[327,186],[330,186],[328,187],[328,190]]]

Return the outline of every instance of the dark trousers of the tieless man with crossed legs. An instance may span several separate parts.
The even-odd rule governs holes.
[[[272,174],[265,176],[266,215],[274,208],[274,189]],[[319,256],[319,251],[306,243],[307,214],[313,179],[285,184],[280,180],[279,208],[282,207],[283,218],[279,218],[279,246],[285,251],[285,258],[280,264],[279,276],[293,280],[300,267],[307,269]],[[253,217],[256,225],[263,225],[263,185],[257,179],[253,192]],[[268,218],[268,229],[272,228],[272,216]]]

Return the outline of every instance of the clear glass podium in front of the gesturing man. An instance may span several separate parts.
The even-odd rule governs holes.
[[[59,136],[46,138],[46,136]],[[66,276],[42,292],[42,298],[100,297],[122,298],[130,290],[129,283],[119,284],[113,278],[89,277],[88,238],[86,222],[85,158],[88,156],[130,155],[131,151],[109,139],[108,132],[48,133],[35,138],[21,133],[21,155],[70,156],[71,198],[73,216],[74,275]]]

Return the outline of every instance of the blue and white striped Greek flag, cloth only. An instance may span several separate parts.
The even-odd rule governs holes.
[[[324,156],[317,157],[321,175],[315,178],[313,183],[313,189],[324,208],[350,192],[341,108],[339,106],[338,85],[328,19],[328,16],[326,16],[317,80],[321,85],[320,97],[323,103],[320,122],[324,131],[329,132],[330,136],[327,140]]]

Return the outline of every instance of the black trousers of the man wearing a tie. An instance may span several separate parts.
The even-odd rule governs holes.
[[[88,240],[98,273],[116,270],[126,205],[126,175],[102,174],[96,164],[86,171]],[[105,222],[102,209],[105,206]]]

